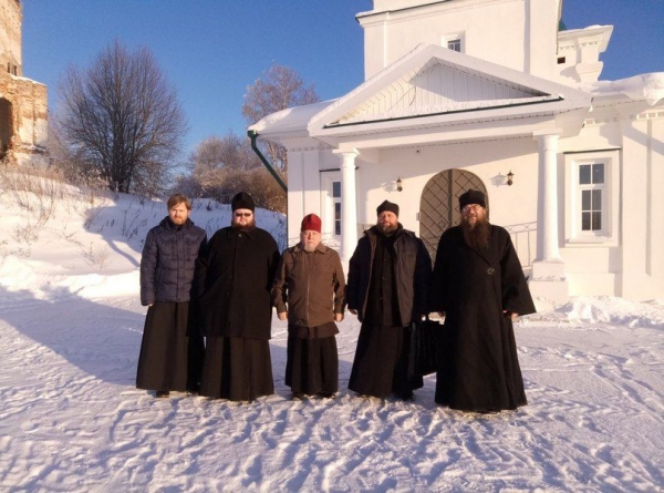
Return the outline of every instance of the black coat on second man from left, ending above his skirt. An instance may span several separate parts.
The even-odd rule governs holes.
[[[270,289],[278,265],[277,242],[264,229],[215,233],[194,281],[203,335],[270,339]]]

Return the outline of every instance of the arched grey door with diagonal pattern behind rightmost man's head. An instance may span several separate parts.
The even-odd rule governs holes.
[[[489,206],[487,188],[479,177],[464,170],[446,170],[427,182],[419,199],[419,237],[432,259],[440,235],[445,229],[459,223],[459,195],[468,189],[484,192]]]

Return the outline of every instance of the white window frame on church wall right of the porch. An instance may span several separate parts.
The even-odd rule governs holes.
[[[620,201],[620,152],[618,150],[569,153],[566,161],[566,243],[568,245],[618,245]],[[603,164],[602,185],[581,185],[581,165]],[[581,220],[581,192],[602,191],[602,228],[583,230]]]

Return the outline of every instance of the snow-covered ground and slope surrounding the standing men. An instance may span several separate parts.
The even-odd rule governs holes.
[[[530,402],[516,412],[437,407],[433,376],[414,402],[356,398],[345,388],[360,328],[351,315],[334,400],[289,399],[276,317],[274,396],[155,400],[134,388],[137,266],[164,204],[65,188],[40,205],[6,182],[0,491],[663,491],[661,300],[539,304],[516,328]],[[191,218],[212,233],[229,214],[203,201]],[[283,245],[283,218],[257,216]]]

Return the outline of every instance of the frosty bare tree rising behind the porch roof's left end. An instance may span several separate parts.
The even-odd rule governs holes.
[[[305,86],[298,72],[288,66],[273,64],[253,85],[247,88],[242,114],[251,125],[271,113],[318,101],[320,97],[313,84]],[[261,142],[270,161],[286,178],[288,175],[286,148],[271,142]]]

